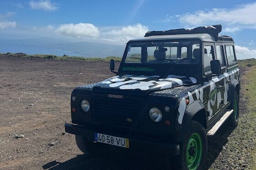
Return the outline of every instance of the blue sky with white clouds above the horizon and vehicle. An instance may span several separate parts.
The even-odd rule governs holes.
[[[148,30],[222,24],[238,58],[256,58],[256,2],[236,1],[0,1],[0,38],[56,38],[124,44]]]

